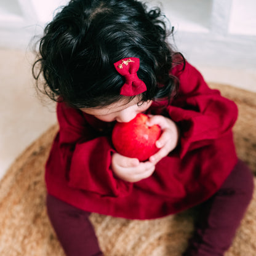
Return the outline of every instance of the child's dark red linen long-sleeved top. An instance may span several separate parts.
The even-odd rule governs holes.
[[[169,105],[153,102],[148,113],[174,120],[180,145],[151,177],[135,183],[114,177],[113,123],[58,103],[60,130],[46,164],[49,194],[89,212],[137,219],[174,214],[212,196],[237,162],[231,128],[238,109],[189,63],[172,74],[180,79],[178,96]]]

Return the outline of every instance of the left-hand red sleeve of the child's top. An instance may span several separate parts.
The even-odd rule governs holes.
[[[58,103],[57,116],[60,123],[58,148],[68,185],[102,196],[130,193],[132,184],[113,176],[111,154],[114,150],[110,139],[99,136],[81,111],[65,103]]]

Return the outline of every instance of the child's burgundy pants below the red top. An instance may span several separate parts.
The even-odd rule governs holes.
[[[201,204],[195,233],[183,256],[221,256],[231,246],[254,188],[252,172],[239,161],[220,190]],[[102,256],[89,212],[47,196],[52,226],[68,256]]]

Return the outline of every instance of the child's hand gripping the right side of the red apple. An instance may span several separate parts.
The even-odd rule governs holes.
[[[156,147],[160,148],[160,150],[153,156],[150,156],[149,159],[150,162],[156,164],[162,158],[167,156],[170,151],[176,148],[180,137],[180,131],[174,121],[172,121],[170,118],[165,118],[164,116],[160,115],[150,116],[147,124],[148,126],[158,124],[162,129],[162,135],[156,142]]]

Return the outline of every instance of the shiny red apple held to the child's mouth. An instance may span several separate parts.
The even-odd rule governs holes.
[[[137,114],[130,122],[117,122],[112,133],[112,142],[116,151],[129,158],[138,158],[145,161],[159,148],[156,141],[161,135],[158,125],[147,126],[146,114]]]

